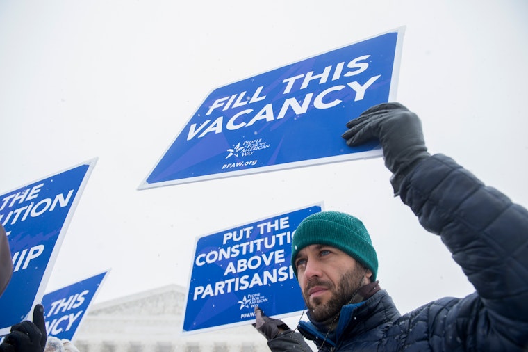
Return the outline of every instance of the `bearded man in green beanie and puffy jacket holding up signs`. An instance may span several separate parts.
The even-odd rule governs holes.
[[[398,103],[347,123],[355,147],[377,138],[394,194],[441,237],[475,293],[400,314],[379,287],[363,223],[338,211],[305,218],[292,239],[292,269],[308,309],[299,332],[256,307],[272,351],[528,351],[528,211],[443,154],[427,152],[418,116]],[[296,329],[296,330],[297,330]]]

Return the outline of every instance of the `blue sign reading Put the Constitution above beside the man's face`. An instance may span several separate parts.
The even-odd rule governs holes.
[[[247,325],[256,305],[274,318],[301,312],[291,240],[299,223],[319,211],[322,205],[312,205],[197,239],[183,333]]]

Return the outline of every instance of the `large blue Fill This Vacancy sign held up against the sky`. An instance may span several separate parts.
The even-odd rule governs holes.
[[[403,31],[213,90],[138,189],[381,156],[340,136],[395,99]]]

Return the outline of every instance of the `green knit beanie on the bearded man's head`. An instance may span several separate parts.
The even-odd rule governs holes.
[[[299,250],[312,244],[336,247],[372,271],[376,280],[378,257],[363,223],[352,215],[339,211],[321,211],[306,217],[293,235],[292,268],[297,278],[295,257]]]

